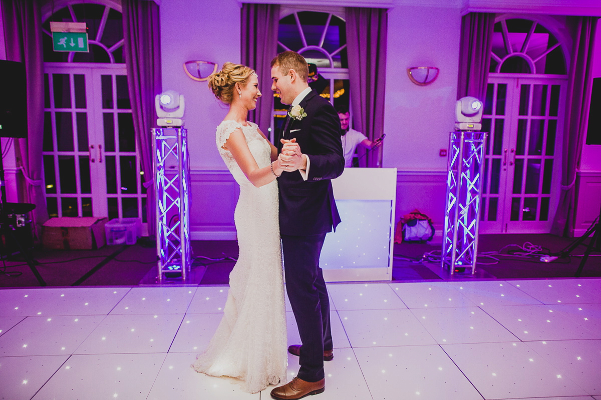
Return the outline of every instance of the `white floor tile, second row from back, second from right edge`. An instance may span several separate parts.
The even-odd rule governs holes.
[[[549,305],[487,307],[486,312],[522,341],[601,338],[584,321],[570,320]]]

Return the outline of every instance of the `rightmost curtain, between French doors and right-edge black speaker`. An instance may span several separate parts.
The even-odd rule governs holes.
[[[593,89],[594,36],[597,17],[569,17],[574,38],[572,62],[566,95],[566,124],[563,136],[560,200],[553,219],[551,233],[573,236],[576,203],[576,175],[586,134],[588,111]]]

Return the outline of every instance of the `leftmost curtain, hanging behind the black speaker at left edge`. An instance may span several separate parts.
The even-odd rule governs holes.
[[[14,141],[17,166],[23,173],[18,179],[18,200],[20,203],[35,204],[31,218],[34,235],[39,240],[41,225],[48,219],[42,188],[44,56],[40,1],[2,0],[2,16],[7,59],[25,63],[28,135],[25,139]]]

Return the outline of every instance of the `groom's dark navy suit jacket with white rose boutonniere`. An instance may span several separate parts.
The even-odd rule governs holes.
[[[307,181],[301,173],[282,172],[278,178],[279,231],[293,236],[328,233],[340,223],[330,179],[344,170],[340,118],[325,98],[311,91],[299,104],[307,113],[301,121],[291,119],[280,137],[292,139],[310,159]],[[284,123],[285,127],[285,123]],[[283,127],[282,127],[283,129]],[[282,143],[278,139],[278,152]]]

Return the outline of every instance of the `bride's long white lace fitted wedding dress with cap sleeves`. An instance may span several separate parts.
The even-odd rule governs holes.
[[[230,273],[224,317],[207,350],[192,367],[207,375],[239,378],[251,393],[268,384],[285,383],[287,338],[279,239],[278,184],[254,187],[231,153],[222,148],[230,134],[242,128],[260,168],[271,162],[269,143],[256,124],[243,127],[223,121],[217,127],[219,154],[240,185],[234,221],[240,253]]]

